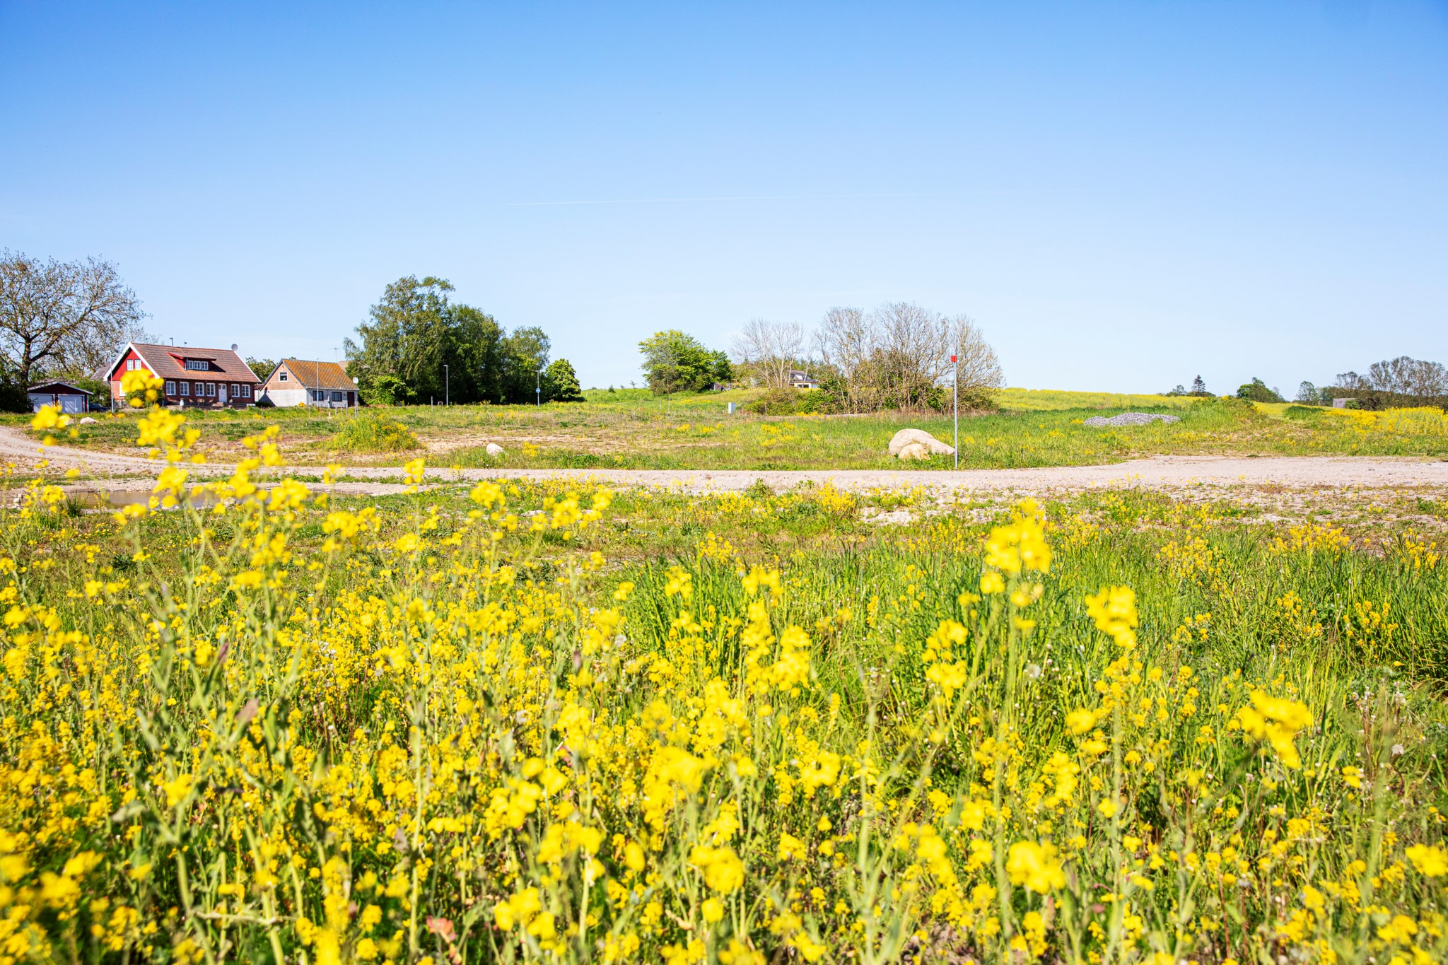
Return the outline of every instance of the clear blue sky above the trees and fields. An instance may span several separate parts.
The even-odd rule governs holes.
[[[333,357],[400,275],[584,385],[905,299],[1011,385],[1448,362],[1438,3],[0,0],[0,247]]]

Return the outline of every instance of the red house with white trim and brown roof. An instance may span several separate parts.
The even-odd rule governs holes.
[[[245,408],[256,404],[261,379],[230,349],[195,349],[191,346],[152,346],[132,341],[106,369],[104,382],[117,405],[126,404],[120,389],[127,372],[149,372],[164,379],[167,405],[204,408]]]

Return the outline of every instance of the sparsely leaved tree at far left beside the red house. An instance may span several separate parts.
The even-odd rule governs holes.
[[[90,375],[145,337],[145,317],[110,262],[0,253],[0,362],[20,385],[38,372]]]

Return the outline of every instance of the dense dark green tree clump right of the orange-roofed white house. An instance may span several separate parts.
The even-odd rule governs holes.
[[[452,299],[450,282],[407,275],[382,292],[343,341],[348,375],[374,404],[581,401],[568,359],[549,362],[542,328],[505,331],[473,305]]]

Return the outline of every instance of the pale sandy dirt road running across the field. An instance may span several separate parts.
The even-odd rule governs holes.
[[[77,467],[93,476],[153,476],[161,463],[140,456],[71,450],[52,446],[45,454],[56,469]],[[28,467],[42,459],[39,447],[23,433],[0,427],[0,459]],[[230,466],[194,466],[193,476],[229,475]],[[298,475],[319,475],[320,466],[292,466]],[[352,480],[348,490],[382,495],[395,485],[403,470],[394,466],[362,466],[345,470]],[[653,486],[689,492],[744,489],[763,480],[773,489],[789,489],[804,482],[830,482],[840,489],[901,489],[922,486],[940,493],[963,492],[1054,492],[1111,486],[1177,489],[1192,486],[1263,486],[1293,489],[1363,486],[1396,489],[1405,486],[1448,488],[1445,459],[1370,459],[1339,456],[1154,456],[1112,466],[1058,466],[1048,469],[963,469],[947,470],[572,470],[572,469],[429,469],[429,480],[475,479],[578,479],[615,486]],[[376,480],[375,483],[371,480]],[[100,488],[100,486],[94,486]],[[125,486],[117,479],[109,488]]]

